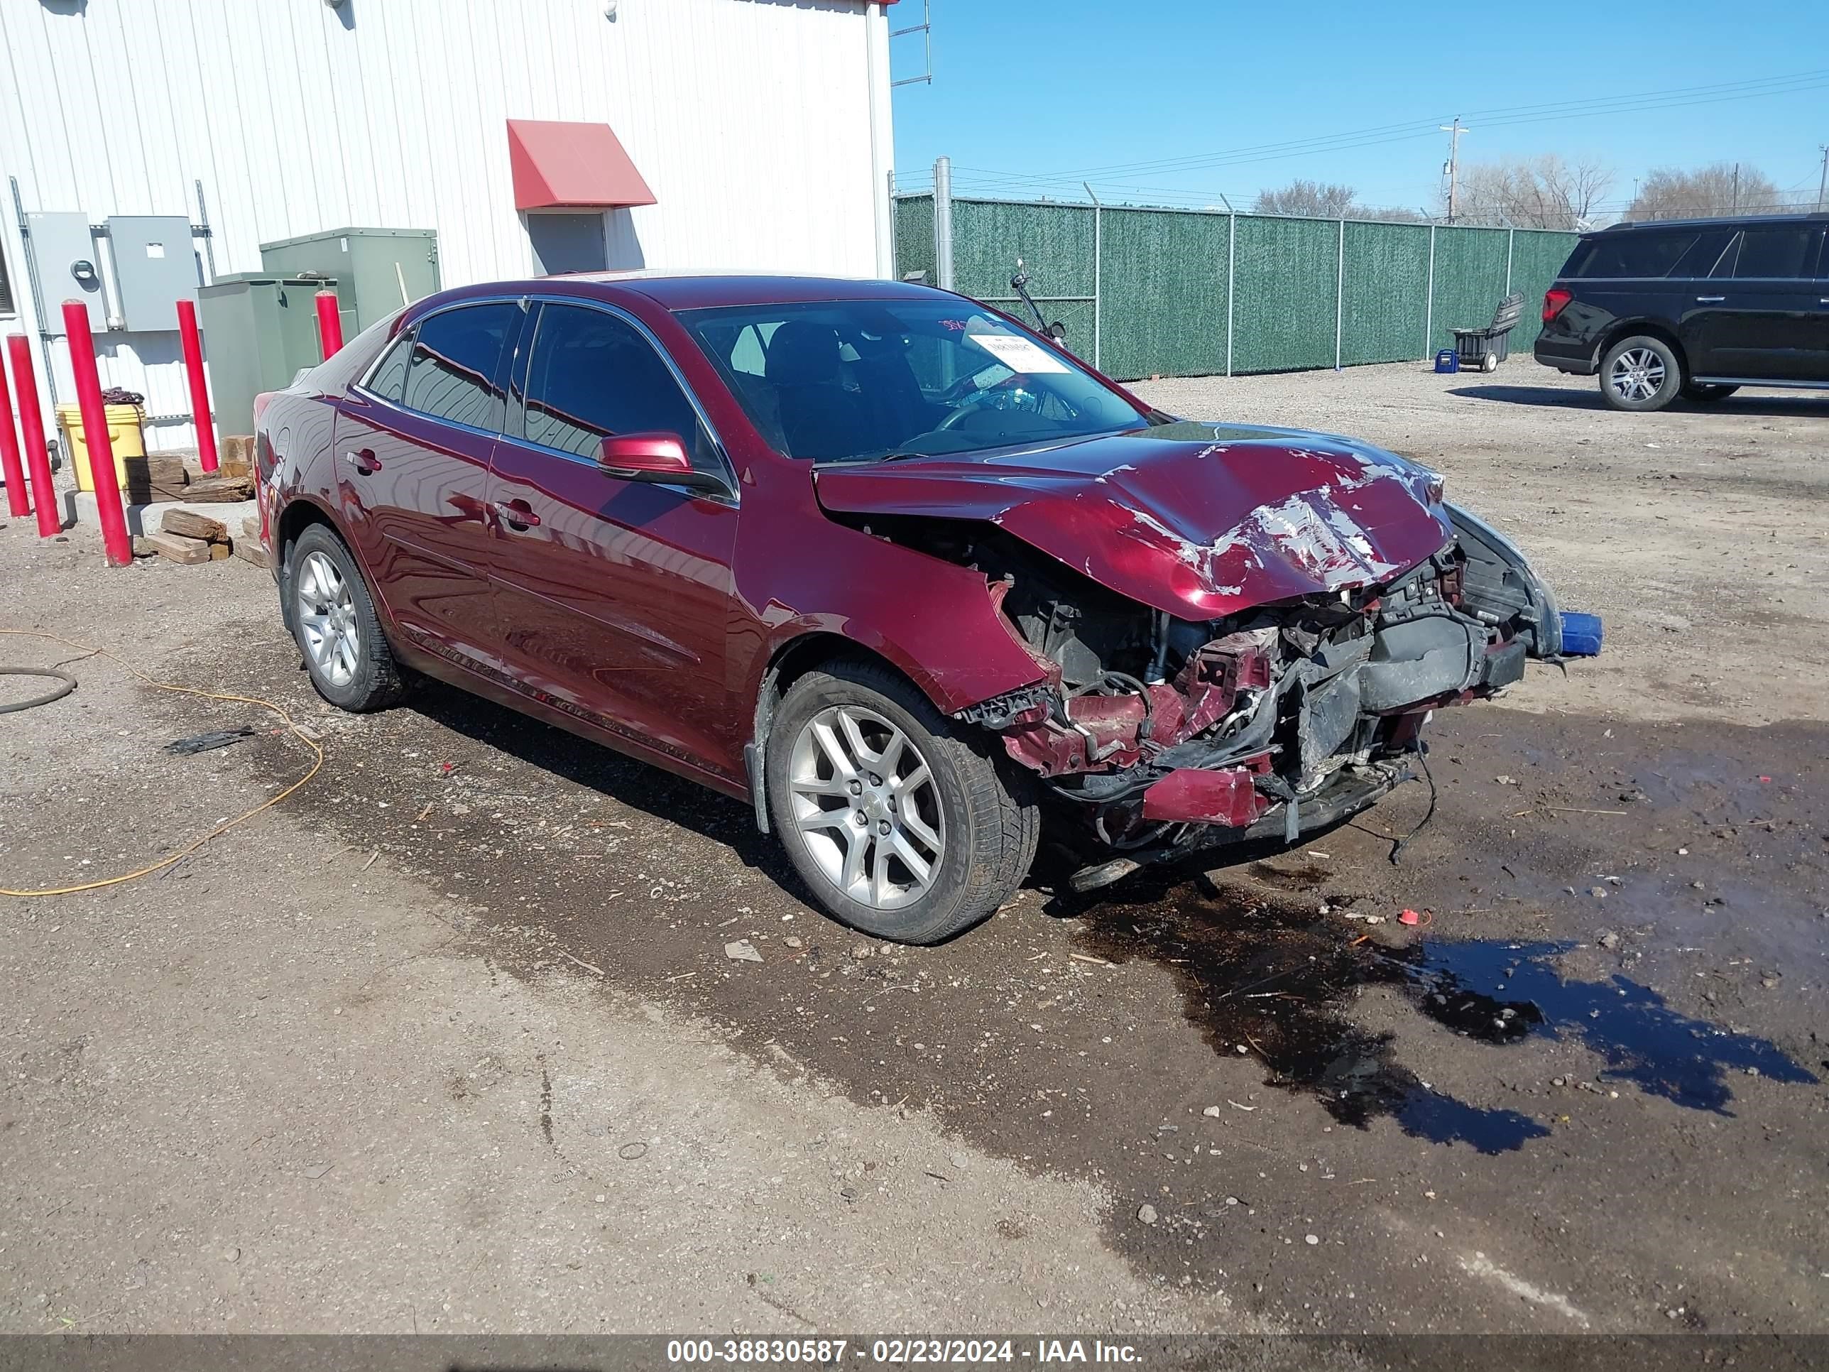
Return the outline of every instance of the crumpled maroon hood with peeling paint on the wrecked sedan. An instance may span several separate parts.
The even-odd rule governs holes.
[[[1454,531],[1438,477],[1330,434],[1178,421],[1057,448],[821,466],[850,514],[986,520],[1180,618],[1377,585]]]

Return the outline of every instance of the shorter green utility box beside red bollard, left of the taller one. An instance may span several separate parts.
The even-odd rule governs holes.
[[[335,291],[322,276],[218,276],[198,289],[198,324],[210,364],[210,406],[218,434],[254,432],[254,397],[291,386],[300,368],[324,360],[318,348],[316,293]]]

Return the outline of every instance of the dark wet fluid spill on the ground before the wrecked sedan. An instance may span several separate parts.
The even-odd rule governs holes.
[[[1187,1019],[1214,1052],[1244,1046],[1269,1070],[1266,1085],[1311,1094],[1346,1125],[1388,1116],[1410,1136],[1480,1152],[1549,1134],[1527,1114],[1461,1101],[1399,1063],[1394,1035],[1350,1019],[1364,986],[1390,986],[1443,1028],[1498,1050],[1533,1035],[1580,1043],[1606,1061],[1602,1079],[1688,1109],[1728,1114],[1732,1072],[1816,1081],[1767,1039],[1692,1019],[1628,977],[1564,977],[1556,960],[1569,942],[1390,946],[1277,893],[1176,885],[1138,896],[1147,898],[1083,913],[1086,951],[1174,971]]]

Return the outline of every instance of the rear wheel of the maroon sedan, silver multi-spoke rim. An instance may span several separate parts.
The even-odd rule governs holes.
[[[280,596],[318,695],[366,713],[386,710],[406,693],[406,673],[380,631],[368,584],[331,529],[315,523],[293,541]]]

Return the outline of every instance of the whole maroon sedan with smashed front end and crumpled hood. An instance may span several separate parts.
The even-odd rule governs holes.
[[[424,673],[748,799],[885,938],[995,911],[1044,823],[1083,889],[1339,823],[1560,653],[1434,472],[1165,415],[922,285],[444,291],[258,428],[327,701]]]

